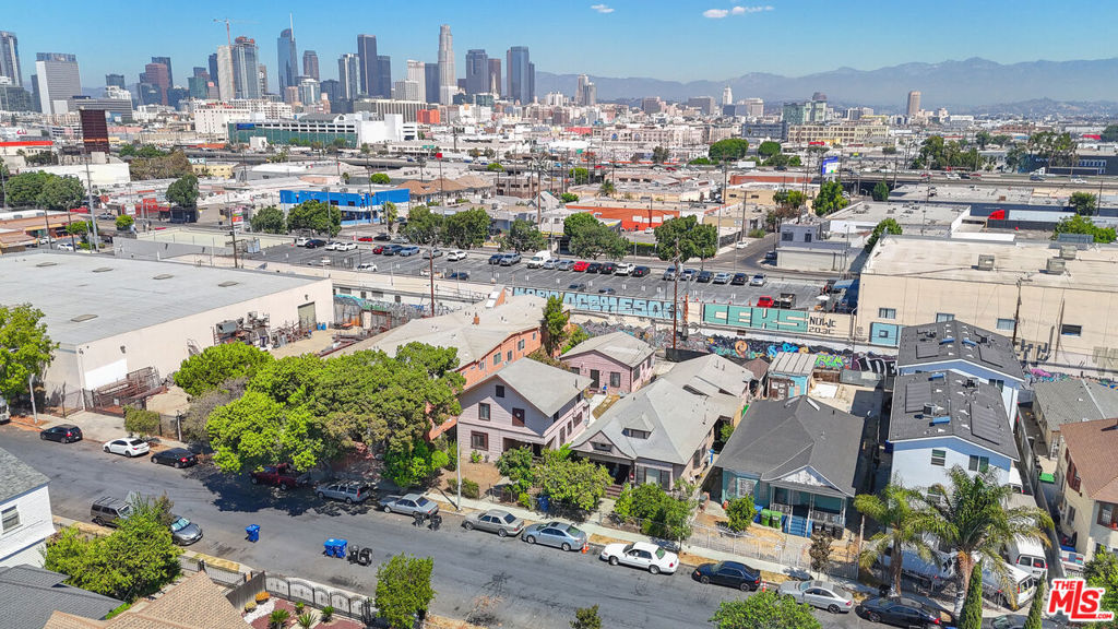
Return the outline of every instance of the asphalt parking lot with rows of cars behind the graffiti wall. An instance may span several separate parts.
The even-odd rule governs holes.
[[[335,252],[325,251],[322,247],[306,250],[294,245],[284,245],[264,250],[259,254],[253,254],[250,259],[268,262],[284,262],[299,266],[325,266],[334,269],[354,270],[362,264],[375,264],[377,273],[390,273],[400,275],[420,275],[426,273],[429,266],[428,260],[420,253],[411,256],[385,256],[372,253],[375,245],[382,243],[360,243],[357,251]],[[444,250],[446,251],[446,250]],[[672,299],[673,282],[663,279],[667,264],[661,261],[645,263],[652,269],[651,273],[644,278],[632,278],[626,275],[601,275],[598,273],[586,273],[576,271],[556,271],[549,269],[529,269],[527,264],[530,255],[524,255],[523,261],[511,266],[498,266],[489,264],[489,257],[494,252],[472,251],[465,260],[451,262],[446,255],[435,259],[435,276],[444,278],[452,272],[465,271],[470,274],[470,280],[477,282],[492,282],[511,287],[529,287],[536,289],[563,290],[571,292],[598,293],[614,291],[616,294],[644,299]],[[688,264],[685,269],[699,270],[698,264]],[[729,272],[732,270],[719,269],[718,271]],[[373,271],[370,271],[373,272]],[[751,275],[752,273],[749,273]],[[585,284],[585,285],[582,285]],[[776,299],[781,293],[795,294],[795,309],[812,309],[815,307],[816,297],[819,294],[821,281],[798,281],[786,279],[767,279],[764,287],[733,285],[730,283],[716,284],[711,282],[699,282],[692,280],[680,281],[680,298],[686,295],[688,299],[708,303],[733,303],[738,306],[756,306],[761,297]]]

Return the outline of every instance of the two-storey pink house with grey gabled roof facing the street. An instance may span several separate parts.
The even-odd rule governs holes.
[[[491,461],[524,445],[537,454],[558,449],[589,423],[584,395],[589,386],[588,378],[570,372],[517,360],[458,396],[458,439]]]

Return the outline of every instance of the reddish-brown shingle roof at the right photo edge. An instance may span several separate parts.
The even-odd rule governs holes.
[[[1060,434],[1079,478],[1093,500],[1118,503],[1118,421],[1096,420],[1065,424]]]

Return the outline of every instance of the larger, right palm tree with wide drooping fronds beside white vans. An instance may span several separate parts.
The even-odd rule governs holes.
[[[959,466],[948,472],[948,484],[934,485],[928,508],[917,516],[916,526],[939,538],[940,546],[955,553],[958,566],[955,595],[956,616],[963,609],[970,573],[980,560],[988,561],[995,573],[1003,571],[1001,550],[1014,537],[1036,539],[1048,545],[1044,531],[1052,528],[1052,517],[1036,507],[1006,508],[1013,488],[999,485],[993,468],[970,476]]]

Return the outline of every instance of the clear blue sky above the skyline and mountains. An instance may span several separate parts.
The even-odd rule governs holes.
[[[357,35],[377,36],[392,57],[436,60],[449,24],[458,75],[468,48],[504,57],[527,45],[538,71],[599,76],[722,79],[747,72],[798,76],[840,66],[873,69],[908,62],[985,57],[999,63],[1116,56],[1100,25],[1118,2],[1062,0],[363,0],[351,2],[9,0],[0,30],[19,37],[23,75],[35,54],[74,53],[85,87],[106,73],[136,81],[153,55],[170,56],[176,83],[226,41],[214,18],[244,20],[233,36],[256,39],[275,84],[276,37],[294,11],[300,55],[319,53],[322,78]]]

